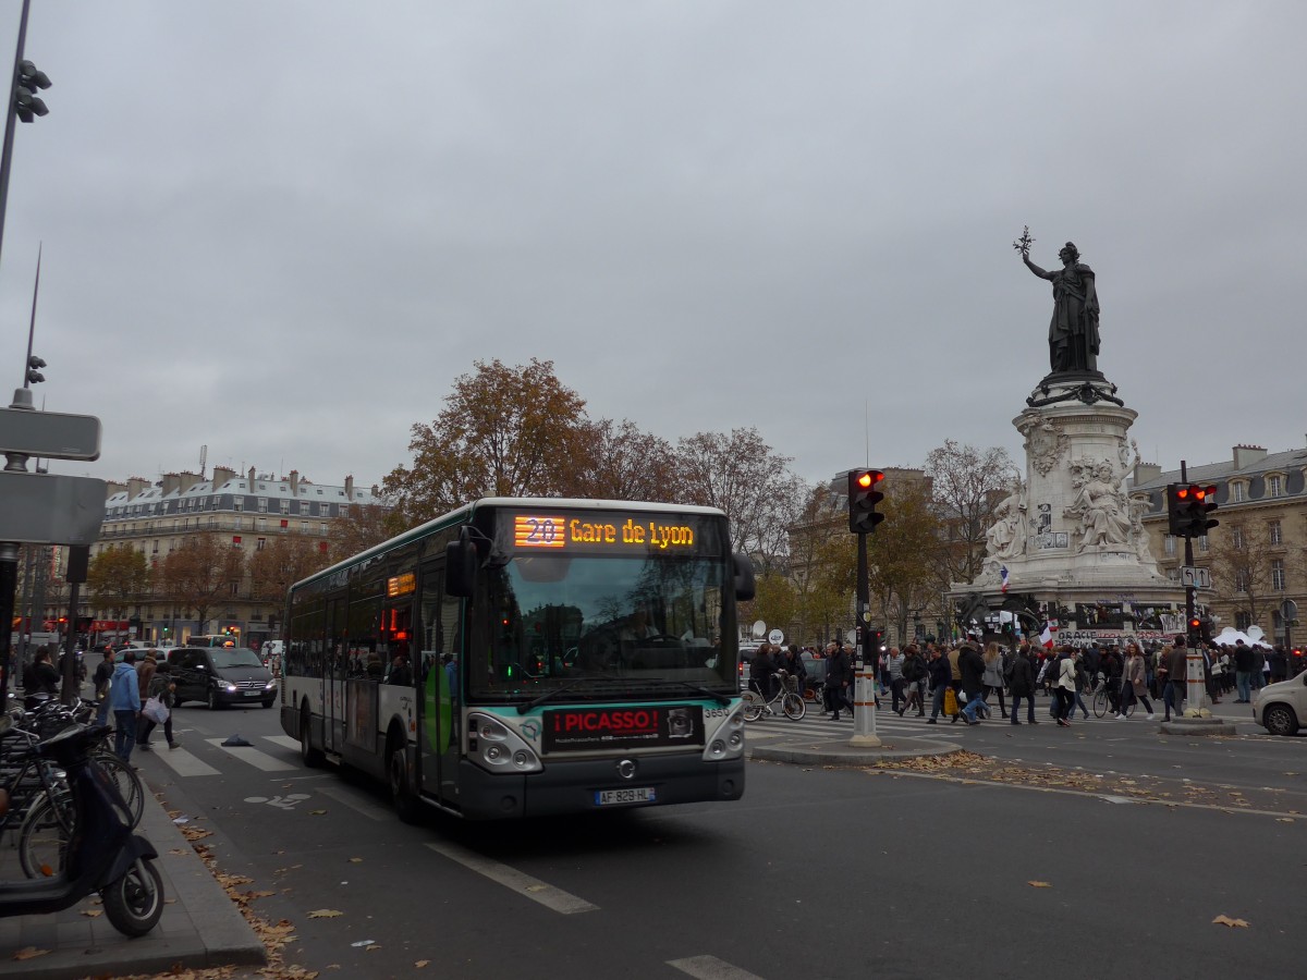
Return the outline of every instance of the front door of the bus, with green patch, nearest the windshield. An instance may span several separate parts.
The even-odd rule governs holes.
[[[444,595],[444,562],[425,566],[418,627],[422,686],[418,770],[422,792],[450,805],[457,804],[463,704],[459,606],[459,598]]]

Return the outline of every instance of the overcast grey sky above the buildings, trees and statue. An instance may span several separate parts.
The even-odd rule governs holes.
[[[1098,276],[1145,460],[1303,446],[1304,37],[1300,1],[33,0],[0,382],[43,243],[37,404],[105,423],[56,472],[370,485],[532,357],[808,480],[1021,459],[1029,225]]]

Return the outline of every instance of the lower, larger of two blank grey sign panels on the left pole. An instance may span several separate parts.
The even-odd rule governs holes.
[[[103,480],[0,470],[0,541],[90,545],[103,523]]]

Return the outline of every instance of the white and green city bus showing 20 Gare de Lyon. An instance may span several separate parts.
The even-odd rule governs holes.
[[[729,542],[711,507],[467,504],[290,588],[282,730],[405,821],[738,800]]]

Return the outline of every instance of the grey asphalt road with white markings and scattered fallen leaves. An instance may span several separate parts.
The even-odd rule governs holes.
[[[735,804],[412,827],[366,780],[302,768],[274,710],[183,707],[183,747],[137,760],[225,873],[272,892],[251,907],[294,924],[286,962],[324,976],[1307,973],[1307,738],[912,721],[885,728],[1012,781],[750,763]],[[234,733],[254,745],[218,745]]]

